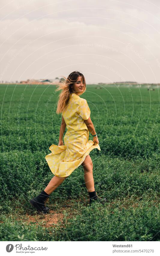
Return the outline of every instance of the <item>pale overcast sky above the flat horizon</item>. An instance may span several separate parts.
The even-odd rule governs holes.
[[[0,81],[160,83],[160,1],[1,0]]]

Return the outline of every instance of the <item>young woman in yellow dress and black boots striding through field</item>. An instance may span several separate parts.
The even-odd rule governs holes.
[[[86,81],[82,73],[74,71],[68,78],[58,83],[58,89],[62,90],[56,113],[62,113],[62,123],[59,132],[58,146],[50,146],[51,153],[45,156],[51,172],[55,175],[41,193],[30,200],[30,203],[40,213],[48,213],[50,194],[80,165],[84,169],[84,180],[90,196],[89,205],[93,201],[104,204],[106,198],[101,200],[97,196],[93,179],[93,164],[89,153],[92,149],[100,149],[97,133],[90,118],[90,109],[85,99],[80,98],[86,91]],[[65,128],[67,132],[62,141]],[[89,139],[89,131],[93,141]]]

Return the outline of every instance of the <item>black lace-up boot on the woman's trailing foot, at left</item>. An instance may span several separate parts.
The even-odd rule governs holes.
[[[49,194],[42,190],[37,197],[31,199],[29,202],[38,210],[39,213],[46,214],[50,210],[48,207],[46,207],[46,203],[49,203],[49,196]]]

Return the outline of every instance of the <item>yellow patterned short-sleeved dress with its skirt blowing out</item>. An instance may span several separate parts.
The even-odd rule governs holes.
[[[99,144],[88,140],[89,130],[84,120],[89,118],[90,113],[87,101],[76,93],[71,93],[68,105],[62,112],[67,127],[64,145],[52,144],[49,148],[51,153],[45,156],[48,166],[55,176],[69,176],[83,163],[92,149],[101,150]]]

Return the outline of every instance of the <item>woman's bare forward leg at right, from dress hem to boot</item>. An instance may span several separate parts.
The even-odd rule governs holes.
[[[84,169],[84,180],[86,183],[86,188],[88,192],[95,191],[94,179],[93,179],[93,163],[91,157],[86,156],[84,162],[82,163]]]

